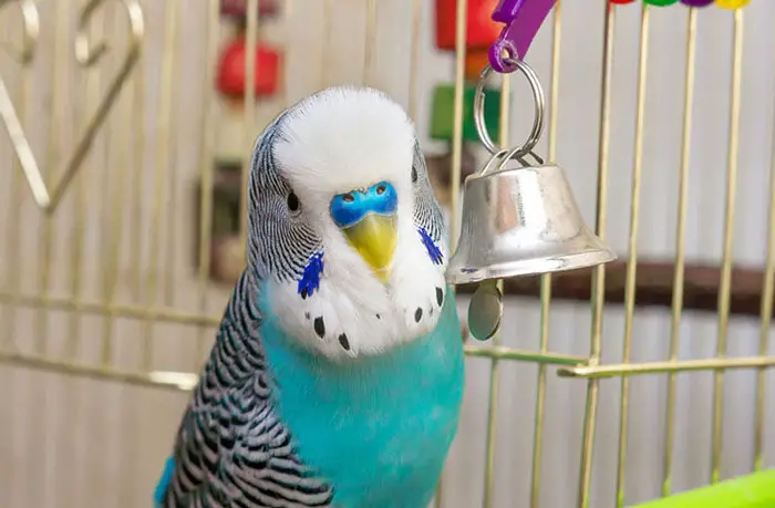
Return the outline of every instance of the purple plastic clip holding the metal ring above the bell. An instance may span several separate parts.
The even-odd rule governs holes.
[[[500,73],[517,66],[506,60],[523,60],[538,29],[556,0],[500,0],[493,11],[493,21],[506,23],[497,41],[489,46],[489,64]],[[504,55],[504,52],[506,53]]]

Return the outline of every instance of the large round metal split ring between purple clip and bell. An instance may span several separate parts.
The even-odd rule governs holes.
[[[520,154],[520,156],[524,156],[531,153],[530,151],[536,146],[538,139],[541,137],[541,133],[544,132],[544,89],[541,89],[540,81],[538,81],[538,76],[536,75],[535,71],[527,63],[521,60],[514,60],[509,58],[504,59],[504,62],[506,62],[508,65],[515,65],[518,71],[525,74],[525,77],[527,77],[527,81],[530,83],[533,99],[535,100],[535,120],[533,121],[533,129],[530,131],[530,135],[525,144],[515,151],[515,155]],[[482,74],[479,74],[479,82],[476,84],[476,93],[474,95],[474,124],[476,125],[476,132],[479,135],[482,144],[485,145],[490,154],[496,154],[498,148],[496,148],[495,143],[493,143],[493,138],[489,137],[487,124],[485,123],[484,117],[484,86],[490,72],[493,72],[493,66],[488,63],[482,70]],[[535,154],[531,155],[536,157]]]

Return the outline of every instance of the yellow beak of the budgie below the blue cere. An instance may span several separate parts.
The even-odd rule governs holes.
[[[395,214],[369,214],[342,231],[374,274],[386,282],[395,251]]]

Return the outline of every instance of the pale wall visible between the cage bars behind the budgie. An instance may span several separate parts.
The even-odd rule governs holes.
[[[65,0],[59,0],[64,2]],[[472,1],[472,0],[469,0]],[[51,65],[54,61],[55,19],[53,0],[39,2],[43,31],[41,51],[30,71],[31,86],[28,131],[39,160],[49,144],[52,100]],[[73,4],[75,2],[72,2]],[[108,2],[110,3],[110,2]],[[116,4],[118,2],[115,2]],[[159,132],[161,70],[164,6],[144,2],[147,41],[143,69],[146,75],[145,102],[123,95],[111,117],[111,126],[101,134],[94,156],[84,167],[81,180],[86,203],[83,247],[83,299],[97,301],[110,281],[103,265],[110,259],[110,235],[121,230],[120,266],[116,271],[115,301],[126,304],[146,302],[146,288],[154,278],[151,268],[151,241],[155,222],[154,175],[156,149],[164,146]],[[259,105],[256,132],[285,104],[319,89],[321,69],[328,68],[328,83],[360,82],[363,75],[365,2],[337,0],[330,32],[330,52],[322,54],[322,6],[313,0],[289,2],[286,19],[267,28],[267,37],[285,46],[287,90],[285,96]],[[416,86],[420,93],[417,125],[427,132],[428,103],[436,82],[452,81],[453,56],[433,48],[432,17],[434,2],[423,2],[423,39]],[[63,6],[63,3],[61,3]],[[166,172],[167,206],[161,221],[162,243],[157,277],[168,284],[156,301],[187,312],[198,310],[197,279],[190,261],[195,195],[194,183],[200,170],[203,96],[211,89],[202,80],[204,56],[205,2],[188,1],[177,6],[178,68],[174,75],[172,147]],[[66,7],[66,6],[65,6]],[[71,10],[71,25],[74,7]],[[609,200],[609,241],[626,256],[629,230],[630,183],[633,165],[634,105],[638,66],[639,8],[618,9],[614,43],[612,92],[611,176]],[[766,247],[766,207],[774,138],[775,35],[771,25],[775,3],[754,0],[746,8],[743,62],[742,129],[740,146],[738,199],[735,215],[734,256],[745,265],[761,266]],[[570,178],[585,217],[593,222],[597,178],[597,133],[601,73],[603,1],[565,0],[562,2],[562,51],[560,65],[558,154]],[[386,90],[403,104],[409,101],[411,0],[379,2],[375,41],[374,85]],[[19,21],[13,7],[2,11],[3,40],[19,40]],[[123,23],[123,18],[117,18]],[[638,252],[643,257],[672,258],[678,204],[681,116],[683,104],[686,9],[682,6],[653,9],[645,113],[644,166],[642,176],[641,221]],[[123,24],[116,30],[122,32]],[[110,30],[110,27],[108,27]],[[72,33],[72,32],[71,32]],[[122,32],[123,33],[123,32]],[[541,29],[528,56],[547,87],[549,85],[551,25]],[[719,262],[722,253],[722,225],[726,188],[728,137],[728,90],[731,73],[732,14],[715,7],[700,15],[696,69],[696,102],[691,153],[688,257],[694,261]],[[73,66],[69,48],[60,53]],[[21,90],[18,68],[4,55],[3,77],[12,93]],[[65,108],[61,146],[73,143],[73,123],[82,103],[83,86],[75,71],[66,90],[62,90]],[[103,86],[106,77],[103,77]],[[533,104],[525,83],[513,80],[513,139],[518,143],[531,122]],[[80,106],[79,106],[80,107]],[[134,137],[122,136],[145,114],[141,149]],[[423,139],[428,153],[443,149]],[[105,151],[105,146],[110,152]],[[131,165],[120,164],[121,151],[133,154]],[[138,153],[138,149],[141,151]],[[541,151],[546,151],[546,139]],[[52,160],[62,167],[69,149],[53,153]],[[138,157],[141,156],[141,157]],[[41,215],[21,182],[11,169],[12,153],[7,137],[0,136],[0,292],[14,288],[14,276],[25,294],[39,288],[44,265],[39,228]],[[162,160],[164,163],[164,160]],[[45,164],[49,166],[50,164]],[[122,173],[125,172],[125,173]],[[121,175],[125,179],[120,179]],[[135,193],[137,190],[137,193]],[[21,193],[21,194],[20,194]],[[14,205],[21,196],[21,207]],[[138,208],[134,208],[135,196]],[[173,200],[173,201],[169,201]],[[111,219],[122,212],[120,228]],[[74,227],[75,200],[71,196],[53,219],[52,271],[50,293],[66,297],[73,273],[72,245],[79,240]],[[14,228],[19,237],[13,236]],[[140,245],[137,240],[140,239]],[[140,271],[133,269],[135,252],[142,255]],[[108,272],[110,273],[110,272]],[[225,301],[224,288],[211,289],[208,311],[217,314]],[[151,294],[151,297],[156,297]],[[465,310],[466,300],[461,299]],[[6,307],[4,309],[10,309]],[[46,353],[62,357],[69,336],[66,313],[35,313],[22,308],[0,313],[0,343],[10,336],[16,346],[32,351],[37,336],[48,334]],[[13,321],[12,321],[13,319]],[[550,348],[552,351],[585,355],[588,351],[590,312],[587,304],[556,303],[551,311]],[[48,331],[37,328],[48,324]],[[621,357],[623,309],[606,310],[603,360]],[[632,342],[633,361],[665,359],[670,317],[662,309],[638,309]],[[106,336],[102,319],[86,315],[81,320],[80,359],[95,363],[100,344]],[[148,338],[136,320],[116,319],[113,325],[113,361],[125,369],[136,367],[141,344]],[[190,370],[196,364],[192,326],[159,324],[153,329],[154,367]],[[715,317],[688,312],[681,326],[681,357],[709,357],[714,353]],[[507,304],[503,326],[506,345],[538,348],[538,303],[531,299],[513,299]],[[757,323],[734,318],[728,330],[731,355],[756,353]],[[775,345],[771,348],[775,354]],[[464,416],[457,442],[445,474],[444,499],[447,507],[480,506],[485,459],[489,362],[468,361]],[[502,363],[496,415],[496,490],[495,506],[527,506],[530,481],[530,454],[537,367],[530,364]],[[21,507],[140,507],[148,506],[159,468],[172,439],[187,395],[141,388],[115,383],[65,377],[3,365],[0,385],[7,398],[0,405],[0,506]],[[753,388],[755,374],[736,372],[726,375],[723,477],[746,473],[753,457]],[[773,376],[768,376],[772,386]],[[618,380],[601,383],[592,504],[613,506],[619,421]],[[666,382],[662,376],[633,379],[631,391],[630,440],[627,462],[627,504],[658,496],[660,491]],[[576,499],[581,422],[585,406],[583,381],[560,380],[549,369],[546,408],[545,455],[542,463],[541,506],[569,507]],[[768,419],[773,428],[775,393],[767,394]],[[674,489],[704,484],[710,478],[712,419],[712,374],[679,376],[674,454]],[[767,434],[766,464],[775,465],[775,436]]]

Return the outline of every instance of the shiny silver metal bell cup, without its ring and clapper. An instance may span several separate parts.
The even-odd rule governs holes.
[[[590,267],[616,255],[585,224],[559,166],[523,166],[472,175],[447,282],[547,273]]]

